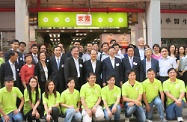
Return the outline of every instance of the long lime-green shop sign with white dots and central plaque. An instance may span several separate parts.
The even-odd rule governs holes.
[[[38,27],[128,27],[127,13],[39,12]]]

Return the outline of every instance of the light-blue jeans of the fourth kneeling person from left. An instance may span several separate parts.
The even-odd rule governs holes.
[[[75,121],[81,121],[82,120],[82,115],[80,112],[77,112],[75,111],[75,109],[67,109],[66,112],[65,112],[65,120],[64,122],[71,122],[72,119],[75,120]]]

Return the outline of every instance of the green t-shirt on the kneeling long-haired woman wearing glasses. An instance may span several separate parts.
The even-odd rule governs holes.
[[[41,90],[40,88],[38,89],[38,92],[39,92],[39,95],[38,95],[38,98],[41,99]],[[36,91],[34,92],[31,92],[31,97],[32,97],[32,103],[35,105],[36,104]],[[23,108],[23,113],[24,114],[27,114],[32,108],[30,107],[29,105],[29,93],[28,93],[28,90],[25,89],[24,90],[24,100],[25,100],[25,103],[24,103],[24,108]]]

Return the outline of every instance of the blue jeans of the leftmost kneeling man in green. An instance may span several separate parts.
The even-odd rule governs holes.
[[[10,118],[10,121],[9,122],[23,122],[23,117],[21,115],[21,113],[17,113],[17,114],[14,114],[13,112],[9,113],[8,114],[9,118]],[[2,120],[4,122],[4,117],[2,116]]]

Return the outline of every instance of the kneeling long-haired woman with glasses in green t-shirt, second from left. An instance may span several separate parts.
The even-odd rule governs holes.
[[[28,122],[36,120],[40,122],[42,109],[39,106],[41,90],[38,88],[38,80],[33,76],[29,78],[27,88],[24,90],[25,104],[23,113]]]

